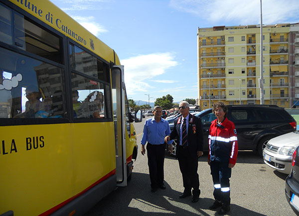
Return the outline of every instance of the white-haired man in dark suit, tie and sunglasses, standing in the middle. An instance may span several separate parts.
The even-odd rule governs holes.
[[[193,188],[192,202],[199,200],[199,179],[197,174],[198,157],[203,154],[203,131],[201,119],[189,113],[189,104],[186,101],[179,103],[181,117],[174,122],[173,130],[165,141],[178,140],[176,156],[179,169],[183,177],[184,192],[179,198],[191,196]]]

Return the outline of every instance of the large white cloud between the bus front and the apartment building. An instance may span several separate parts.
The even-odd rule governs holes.
[[[174,55],[166,52],[139,55],[121,60],[121,63],[125,65],[127,93],[134,95],[140,92],[149,92],[149,89],[156,88],[150,86],[148,81],[178,65],[173,59]]]

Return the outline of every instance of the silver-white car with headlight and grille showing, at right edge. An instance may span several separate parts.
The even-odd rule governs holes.
[[[279,172],[290,174],[292,155],[299,146],[299,131],[294,131],[270,139],[263,150],[264,162]]]

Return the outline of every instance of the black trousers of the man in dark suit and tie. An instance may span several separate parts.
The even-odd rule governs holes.
[[[179,153],[177,155],[179,169],[183,177],[184,193],[191,193],[193,188],[193,195],[200,194],[199,178],[197,174],[198,157],[196,154],[190,154],[188,147],[179,146]]]

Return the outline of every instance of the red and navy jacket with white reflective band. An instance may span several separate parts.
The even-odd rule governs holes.
[[[209,155],[211,161],[236,164],[238,140],[235,124],[225,118],[220,124],[212,121],[209,132]]]

